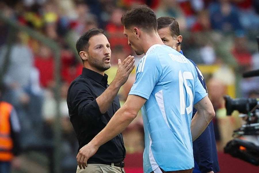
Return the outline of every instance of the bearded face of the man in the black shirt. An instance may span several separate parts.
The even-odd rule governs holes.
[[[111,67],[111,48],[106,36],[98,34],[89,39],[87,62],[99,72]]]

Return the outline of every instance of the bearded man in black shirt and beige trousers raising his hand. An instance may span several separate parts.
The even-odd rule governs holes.
[[[76,44],[83,61],[83,71],[70,85],[67,105],[73,128],[79,141],[79,150],[89,143],[108,123],[120,108],[117,93],[134,69],[134,57],[118,60],[118,70],[108,86],[105,70],[111,67],[111,49],[103,31],[90,29]],[[122,134],[103,144],[95,155],[77,172],[124,172],[125,147]],[[77,158],[80,160],[80,158]],[[83,162],[83,160],[82,160]]]

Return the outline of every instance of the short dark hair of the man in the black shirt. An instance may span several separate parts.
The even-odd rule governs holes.
[[[83,33],[83,35],[81,35],[81,37],[77,40],[77,44],[76,44],[77,53],[79,54],[80,51],[88,50],[90,38],[99,34],[104,34],[102,29],[92,28],[92,29],[89,29],[87,32]],[[82,61],[84,62],[83,59]]]

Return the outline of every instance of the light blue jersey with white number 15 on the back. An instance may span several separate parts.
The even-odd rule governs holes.
[[[139,61],[136,72],[129,95],[147,99],[142,107],[144,172],[158,167],[164,171],[193,168],[193,104],[207,96],[195,67],[173,48],[155,44]]]

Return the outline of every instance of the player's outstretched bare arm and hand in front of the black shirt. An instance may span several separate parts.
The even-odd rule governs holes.
[[[125,104],[113,115],[106,127],[91,142],[83,146],[77,154],[79,168],[87,167],[87,160],[98,148],[121,133],[137,116],[146,99],[137,95],[129,95]]]

